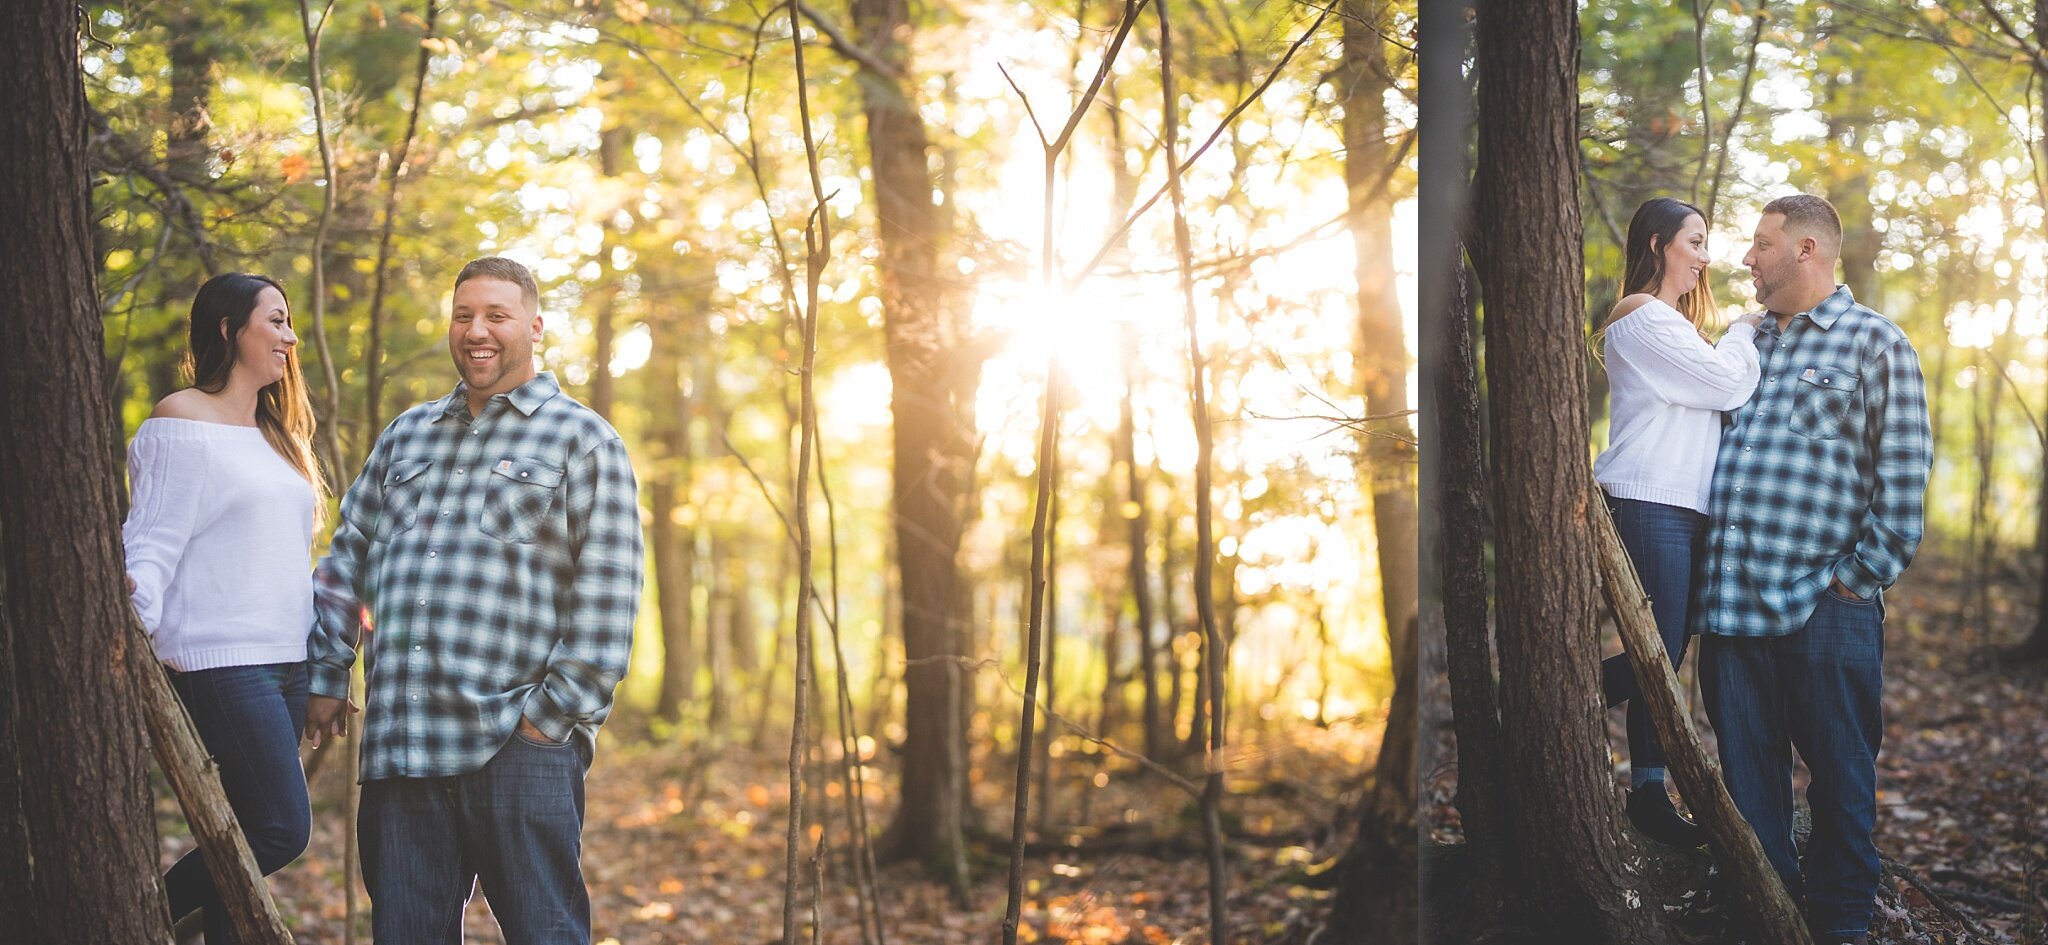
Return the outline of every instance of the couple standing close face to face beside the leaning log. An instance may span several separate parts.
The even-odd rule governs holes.
[[[1610,445],[1593,474],[1673,666],[1700,635],[1700,691],[1737,810],[1821,943],[1868,941],[1878,890],[1876,756],[1884,588],[1921,539],[1933,439],[1919,357],[1835,283],[1841,219],[1821,197],[1763,207],[1757,303],[1720,342],[1706,219],[1657,197],[1628,223],[1624,297],[1606,328]],[[1694,847],[1626,656],[1628,818]],[[1812,773],[1812,836],[1792,845],[1792,750]]]

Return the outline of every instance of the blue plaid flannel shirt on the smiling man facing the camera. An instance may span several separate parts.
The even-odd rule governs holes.
[[[367,631],[362,779],[481,769],[532,720],[594,748],[627,672],[641,521],[618,433],[543,373],[391,422],[313,576],[309,689],[342,697]]]

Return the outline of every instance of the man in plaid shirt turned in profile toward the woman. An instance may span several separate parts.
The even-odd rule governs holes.
[[[1913,560],[1933,437],[1919,357],[1835,285],[1841,219],[1819,197],[1763,207],[1743,264],[1772,316],[1763,379],[1729,414],[1692,627],[1735,806],[1821,943],[1862,943],[1878,888],[1884,588]],[[1792,748],[1812,840],[1792,849]]]

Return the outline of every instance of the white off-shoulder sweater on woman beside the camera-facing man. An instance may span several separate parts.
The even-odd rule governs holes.
[[[313,486],[260,428],[143,420],[121,543],[135,613],[170,668],[305,660]]]

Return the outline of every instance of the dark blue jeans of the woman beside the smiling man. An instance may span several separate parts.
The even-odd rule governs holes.
[[[221,789],[242,824],[256,867],[270,875],[305,853],[313,808],[299,767],[305,730],[305,664],[221,666],[172,672],[170,687],[221,769]],[[170,916],[205,910],[209,943],[236,941],[233,922],[213,890],[207,859],[190,851],[164,873]]]

